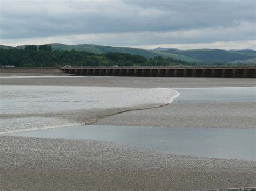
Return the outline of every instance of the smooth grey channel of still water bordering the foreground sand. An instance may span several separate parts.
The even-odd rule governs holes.
[[[87,125],[9,135],[101,140],[178,155],[255,161],[255,133],[255,129],[170,129]]]

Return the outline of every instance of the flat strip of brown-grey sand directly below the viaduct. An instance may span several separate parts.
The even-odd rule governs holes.
[[[168,77],[49,77],[0,79],[4,85],[65,85],[138,88],[256,86],[255,79]]]

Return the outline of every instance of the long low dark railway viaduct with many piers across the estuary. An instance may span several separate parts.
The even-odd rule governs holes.
[[[60,68],[81,76],[256,77],[255,66],[74,66]]]

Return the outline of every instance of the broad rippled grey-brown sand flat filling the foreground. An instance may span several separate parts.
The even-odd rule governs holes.
[[[111,143],[0,136],[1,189],[215,189],[256,185],[256,162],[183,157]]]

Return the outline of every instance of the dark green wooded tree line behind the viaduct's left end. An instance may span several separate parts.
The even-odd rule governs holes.
[[[51,45],[28,45],[24,49],[0,49],[0,65],[16,67],[55,67],[55,66],[169,66],[189,65],[184,60],[156,56],[146,59],[140,55],[119,52],[103,54],[86,51],[55,51]]]

